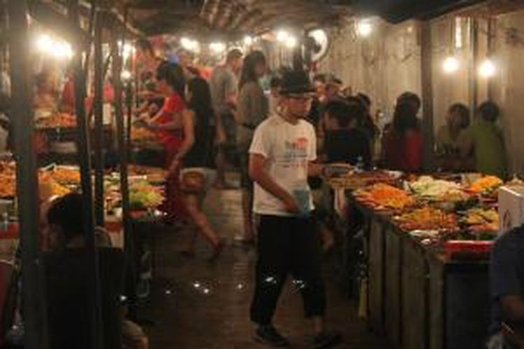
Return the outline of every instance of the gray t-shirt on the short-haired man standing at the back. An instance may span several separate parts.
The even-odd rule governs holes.
[[[238,92],[238,80],[235,73],[227,66],[217,66],[211,75],[210,88],[215,112],[218,115],[233,112],[227,99],[231,94]]]

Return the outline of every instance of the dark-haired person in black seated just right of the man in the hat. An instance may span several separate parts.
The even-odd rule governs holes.
[[[326,105],[326,162],[363,163],[371,167],[370,140],[358,127],[365,118],[365,110],[360,103],[350,101],[331,101]]]

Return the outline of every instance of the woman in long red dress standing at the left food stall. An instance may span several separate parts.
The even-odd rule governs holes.
[[[163,62],[157,68],[157,86],[166,99],[160,112],[147,121],[147,126],[157,131],[159,140],[166,151],[168,178],[166,201],[161,209],[168,214],[170,219],[184,219],[187,214],[180,191],[180,161],[191,149],[194,140],[191,138],[192,132],[189,132],[192,131],[191,120],[184,112],[186,110],[183,99],[185,82],[182,68]]]

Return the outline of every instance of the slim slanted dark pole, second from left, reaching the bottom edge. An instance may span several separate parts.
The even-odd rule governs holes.
[[[78,0],[70,0],[68,3],[68,16],[72,24],[78,25]],[[75,113],[78,122],[78,161],[80,163],[80,177],[82,181],[82,197],[84,199],[84,230],[87,232],[86,248],[91,253],[90,265],[92,269],[90,295],[92,296],[92,348],[103,348],[103,319],[101,309],[101,288],[100,288],[100,271],[99,258],[94,235],[94,215],[93,215],[93,187],[91,181],[91,151],[89,149],[89,124],[85,112],[85,71],[82,65],[83,49],[81,45],[76,48],[75,57],[73,57],[74,82],[75,82]]]

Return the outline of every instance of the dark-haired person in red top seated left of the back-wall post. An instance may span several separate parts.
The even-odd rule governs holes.
[[[423,138],[416,107],[399,101],[395,107],[393,127],[382,138],[382,158],[390,170],[419,172],[422,169]]]

